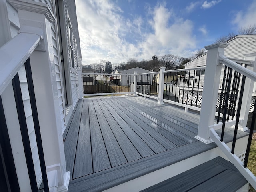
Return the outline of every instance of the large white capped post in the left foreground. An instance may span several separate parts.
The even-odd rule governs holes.
[[[18,9],[23,32],[30,27],[43,30],[43,40],[30,55],[30,62],[49,187],[65,192],[68,190],[70,172],[66,171],[54,67],[51,22],[55,18],[44,3],[25,0],[10,2]]]

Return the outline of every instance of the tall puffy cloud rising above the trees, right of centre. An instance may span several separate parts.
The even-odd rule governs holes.
[[[150,24],[154,32],[140,44],[145,58],[165,54],[185,56],[187,50],[195,48],[193,23],[190,20],[177,18],[174,11],[165,8],[164,4],[158,4],[153,14]]]

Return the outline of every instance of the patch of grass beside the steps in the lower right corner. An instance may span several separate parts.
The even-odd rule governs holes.
[[[247,167],[254,175],[256,175],[256,133],[254,133],[252,136],[252,145],[250,148],[250,155]],[[249,192],[255,192],[252,186],[250,186]]]

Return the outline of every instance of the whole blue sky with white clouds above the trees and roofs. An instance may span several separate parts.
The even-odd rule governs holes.
[[[256,24],[256,0],[76,0],[82,64],[189,57]]]

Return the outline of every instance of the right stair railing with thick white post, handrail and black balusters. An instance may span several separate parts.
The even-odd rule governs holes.
[[[234,154],[235,149],[235,143],[236,143],[236,134],[238,132],[238,129],[244,130],[244,127],[247,123],[248,113],[249,110],[248,106],[250,106],[250,96],[252,96],[252,88],[254,85],[254,82],[256,82],[256,73],[254,72],[254,66],[250,67],[252,70],[249,70],[248,68],[241,66],[240,64],[237,64],[236,62],[228,59],[224,56],[224,48],[226,48],[228,44],[225,43],[218,43],[213,44],[210,46],[206,46],[205,48],[208,50],[207,52],[207,60],[206,60],[206,70],[205,70],[205,76],[207,78],[204,79],[204,91],[202,95],[202,105],[201,105],[201,112],[200,112],[200,121],[198,126],[198,135],[196,138],[206,144],[215,142],[219,148],[226,154],[226,156],[230,159],[230,161],[236,166],[236,168],[243,174],[243,176],[250,182],[250,184],[256,188],[256,177],[248,170],[247,167],[247,160],[248,155],[250,151],[250,144],[253,134],[253,128],[254,124],[252,124],[250,128],[250,134],[248,137],[248,143],[244,144],[244,148],[246,148],[246,157],[244,164],[241,162],[241,160]],[[245,61],[244,63],[247,64],[248,61]],[[240,63],[243,63],[242,60],[240,60]],[[249,62],[250,64],[255,64],[255,61]],[[230,75],[228,76],[225,88],[223,85],[223,90],[226,90],[224,94],[226,95],[224,100],[220,101],[224,103],[224,113],[222,118],[222,123],[214,124],[215,120],[215,114],[216,114],[216,102],[218,97],[218,91],[220,87],[220,74],[222,70],[222,66],[227,66]],[[238,98],[238,104],[232,104],[230,101],[230,97],[237,95],[238,93],[235,93],[234,90],[230,91],[231,88],[233,89],[231,85],[232,81],[232,72],[235,70],[237,73],[242,74],[242,82],[241,86],[238,87],[239,90],[239,98]],[[237,84],[239,86],[240,78],[237,78]],[[207,88],[207,90],[206,90]],[[232,95],[233,94],[233,95]],[[232,108],[230,108],[232,107]],[[255,108],[254,108],[255,109]],[[235,114],[234,114],[235,112]],[[256,110],[254,110],[256,115]],[[234,116],[234,120],[230,119],[230,116]],[[254,117],[255,118],[255,117]],[[229,121],[229,122],[227,122]],[[255,119],[252,119],[252,122],[254,122]],[[225,125],[228,124],[228,126],[234,125],[234,139],[232,142],[232,148],[230,149],[225,143],[224,143],[224,130]],[[218,136],[215,129],[222,127],[222,134],[221,136]]]

